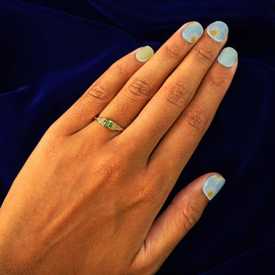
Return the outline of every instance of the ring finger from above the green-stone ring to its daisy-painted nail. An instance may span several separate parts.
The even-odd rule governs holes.
[[[183,34],[182,31],[184,30]],[[191,32],[191,31],[192,32]],[[179,65],[202,34],[197,22],[186,23],[159,48],[155,55],[130,78],[120,93],[98,115],[126,128],[140,113],[173,69]],[[189,37],[187,34],[192,34]],[[190,42],[183,38],[183,35]],[[113,133],[115,135],[115,133]]]

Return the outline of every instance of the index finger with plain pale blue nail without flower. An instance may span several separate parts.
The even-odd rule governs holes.
[[[222,62],[226,58],[229,58],[229,65],[234,65],[225,67],[228,63],[223,62],[225,65],[221,65],[218,61],[214,62],[195,97],[155,148],[149,162],[152,169],[165,163],[165,166],[162,165],[162,173],[169,171],[179,174],[184,168],[210,126],[236,72],[236,51],[232,48],[223,49],[219,60]]]

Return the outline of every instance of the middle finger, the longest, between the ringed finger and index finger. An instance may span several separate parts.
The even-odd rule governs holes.
[[[221,28],[228,29],[225,23],[221,22],[220,25]],[[208,28],[211,28],[211,25]],[[136,120],[124,131],[125,139],[134,135],[137,137],[136,144],[146,144],[149,154],[153,151],[159,140],[192,100],[201,81],[225,44],[227,31],[224,35],[223,40],[218,42],[208,33],[203,33],[184,61],[167,78]]]

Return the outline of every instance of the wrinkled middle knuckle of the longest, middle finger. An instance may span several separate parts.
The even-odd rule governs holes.
[[[164,86],[164,97],[173,105],[183,107],[190,100],[192,89],[187,81],[169,83]]]

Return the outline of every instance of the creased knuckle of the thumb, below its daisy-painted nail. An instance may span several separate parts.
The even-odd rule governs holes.
[[[195,201],[187,201],[178,208],[178,213],[179,223],[184,225],[185,230],[190,230],[199,221],[202,211]]]

